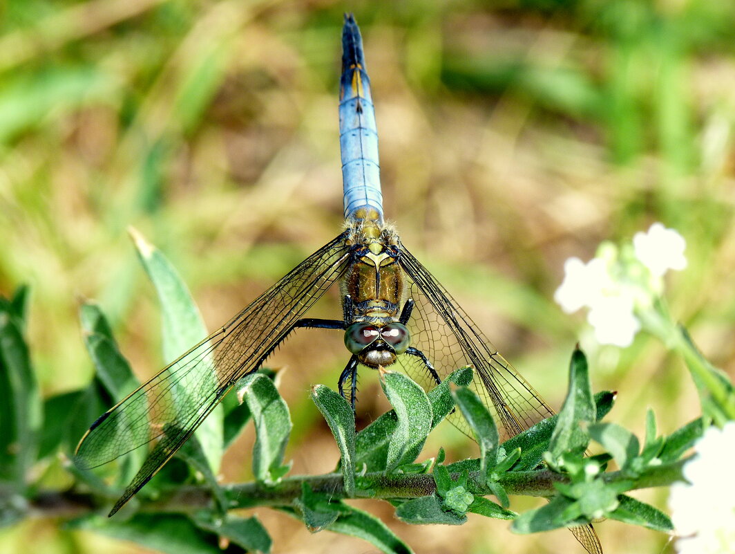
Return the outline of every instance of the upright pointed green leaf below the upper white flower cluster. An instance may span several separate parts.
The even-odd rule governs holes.
[[[569,390],[562,410],[559,411],[548,446],[552,460],[559,458],[563,452],[584,450],[589,442],[589,436],[581,428],[580,422],[594,422],[596,419],[587,358],[580,349],[576,349],[572,355],[569,372]]]

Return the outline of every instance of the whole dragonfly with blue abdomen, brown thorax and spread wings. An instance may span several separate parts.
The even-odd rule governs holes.
[[[375,107],[362,36],[350,14],[342,45],[344,230],[93,423],[76,449],[75,463],[83,469],[151,447],[110,516],[176,454],[240,379],[300,328],[343,331],[350,356],[337,387],[353,410],[360,368],[400,366],[430,388],[471,365],[472,388],[495,416],[501,439],[554,413],[384,220]],[[335,283],[341,319],[304,317]],[[176,386],[183,381],[184,393]],[[602,552],[591,525],[573,531],[590,553]]]

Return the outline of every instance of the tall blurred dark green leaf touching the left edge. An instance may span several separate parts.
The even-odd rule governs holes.
[[[0,480],[24,488],[35,464],[43,405],[21,320],[0,309]]]

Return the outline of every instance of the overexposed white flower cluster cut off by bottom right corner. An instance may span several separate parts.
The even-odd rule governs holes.
[[[674,483],[669,507],[679,554],[735,554],[735,422],[709,427],[684,466],[689,483]]]

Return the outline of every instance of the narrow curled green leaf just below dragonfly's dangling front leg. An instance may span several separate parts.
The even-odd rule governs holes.
[[[345,494],[353,497],[355,494],[355,416],[352,407],[340,394],[323,385],[312,388],[312,400],[326,419],[340,447]]]

